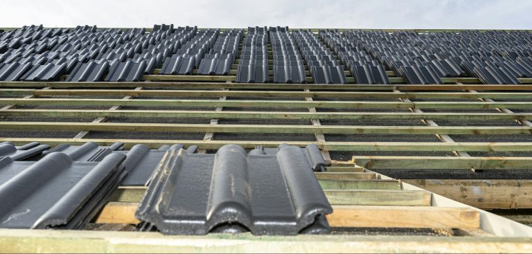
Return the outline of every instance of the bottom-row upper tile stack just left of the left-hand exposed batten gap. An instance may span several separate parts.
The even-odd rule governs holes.
[[[146,69],[146,62],[115,62],[112,64],[109,74],[105,81],[113,82],[138,82],[141,81],[142,75]]]

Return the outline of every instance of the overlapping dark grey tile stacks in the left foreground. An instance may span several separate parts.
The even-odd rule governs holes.
[[[81,228],[123,185],[145,185],[168,149],[0,144],[0,228]],[[195,147],[188,149],[193,152]]]

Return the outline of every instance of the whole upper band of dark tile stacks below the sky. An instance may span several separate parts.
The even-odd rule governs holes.
[[[236,82],[345,84],[351,73],[358,84],[389,84],[386,71],[394,71],[409,84],[458,77],[520,84],[517,78],[532,78],[531,38],[529,31],[313,33],[163,24],[148,33],[24,26],[0,33],[0,81],[57,81],[63,75],[69,82],[140,81],[154,69],[161,75],[229,75],[236,64]]]

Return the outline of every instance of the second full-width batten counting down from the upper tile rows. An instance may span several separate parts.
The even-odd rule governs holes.
[[[11,90],[0,89],[0,94],[10,95]],[[28,93],[20,93],[26,95]],[[29,93],[32,94],[32,93]],[[467,92],[360,92],[360,91],[213,91],[213,90],[126,90],[126,89],[44,89],[33,91],[34,96],[189,96],[189,97],[333,97],[333,98],[436,98],[436,99],[531,99],[532,93],[467,93]]]

